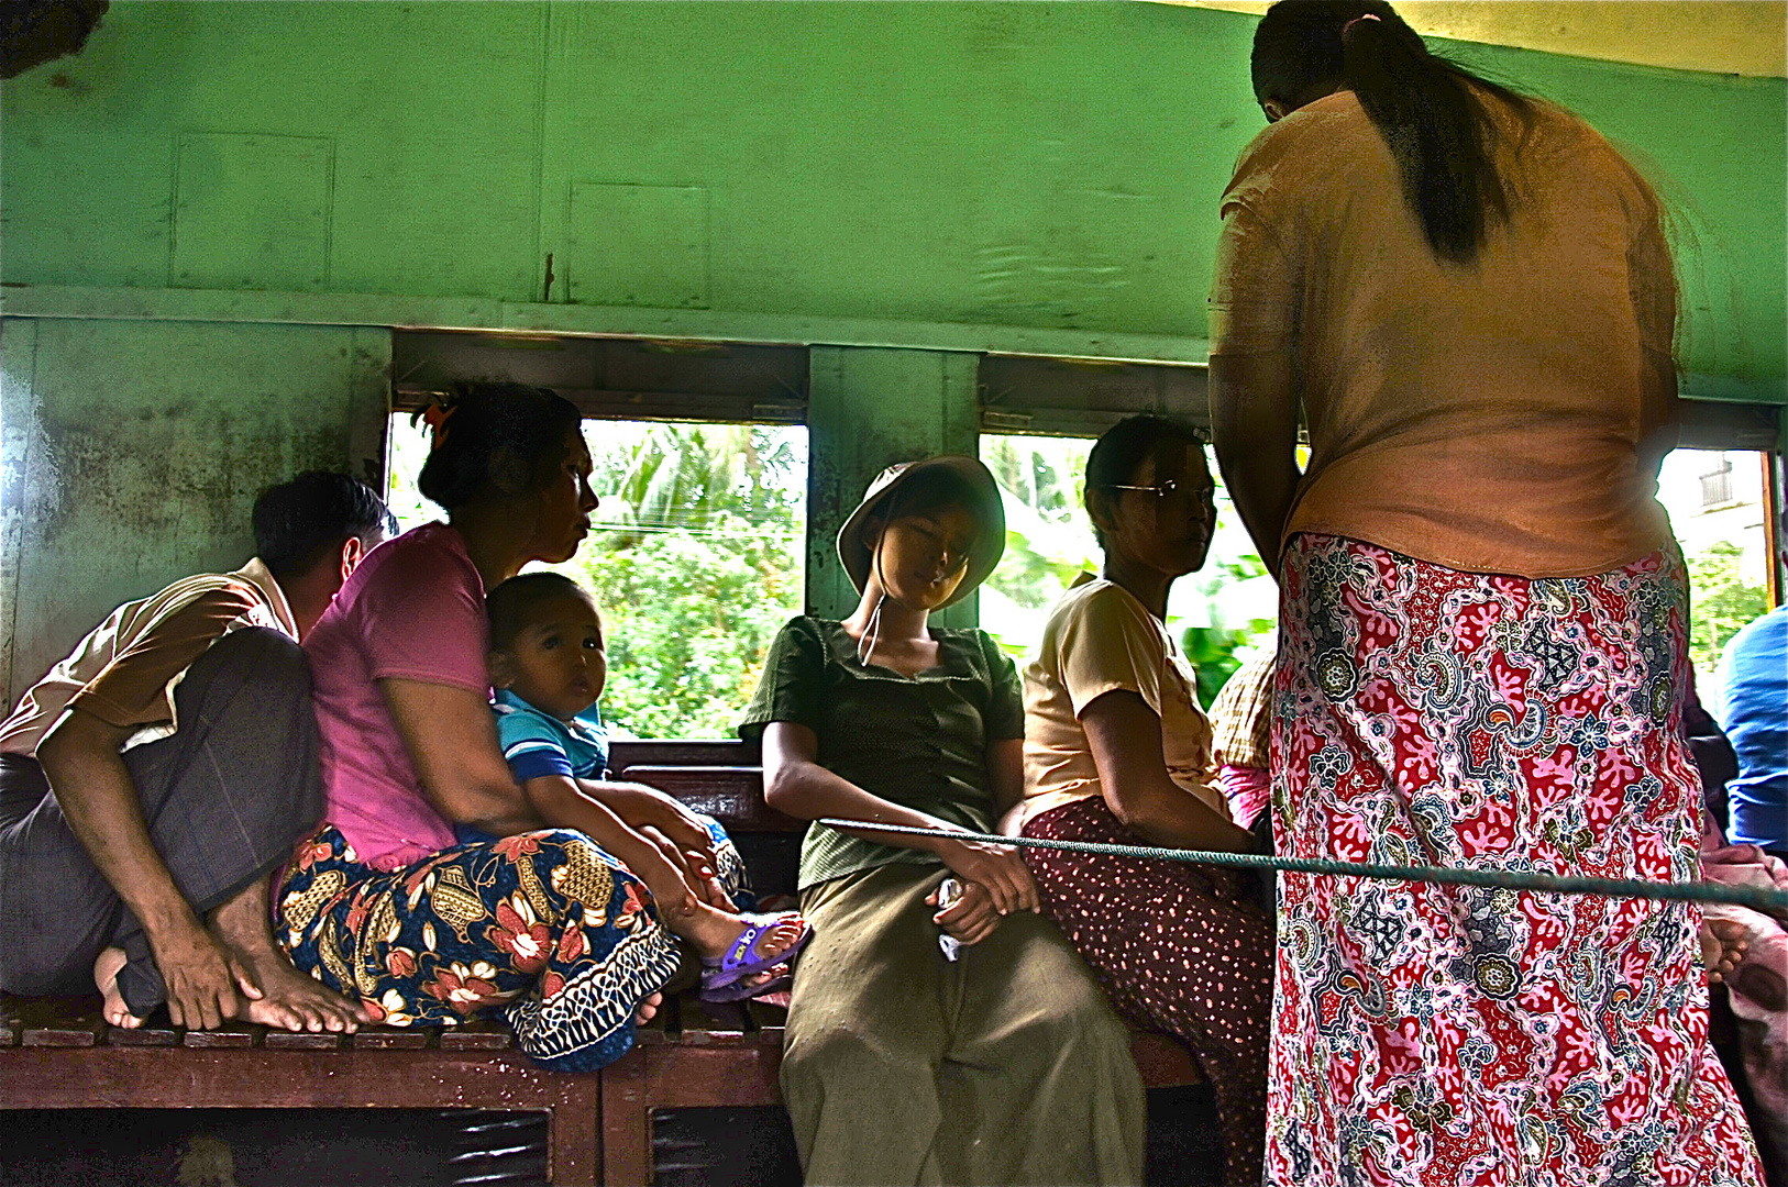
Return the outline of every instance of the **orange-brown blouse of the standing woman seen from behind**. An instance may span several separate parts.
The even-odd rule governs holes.
[[[1498,170],[1513,222],[1436,261],[1352,91],[1286,116],[1223,195],[1210,354],[1284,354],[1311,461],[1286,538],[1350,536],[1468,572],[1586,576],[1668,522],[1638,443],[1674,418],[1675,286],[1650,186],[1536,105]]]

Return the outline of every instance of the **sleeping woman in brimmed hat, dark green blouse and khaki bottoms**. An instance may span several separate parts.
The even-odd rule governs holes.
[[[790,620],[740,733],[771,806],[935,829],[814,824],[781,1085],[814,1183],[1134,1183],[1143,1087],[1125,1026],[1037,913],[994,831],[1023,796],[1017,672],[982,631],[928,626],[999,561],[1005,513],[974,458],[883,472],[839,533],[862,594]],[[960,896],[940,903],[953,880]],[[960,942],[946,958],[939,937]]]

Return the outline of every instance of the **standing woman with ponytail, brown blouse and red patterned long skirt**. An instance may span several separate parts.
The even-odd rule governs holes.
[[[1253,89],[1210,404],[1280,579],[1278,851],[1693,878],[1656,197],[1386,4],[1273,5]],[[1271,1182],[1761,1182],[1695,908],[1286,874],[1280,912]]]

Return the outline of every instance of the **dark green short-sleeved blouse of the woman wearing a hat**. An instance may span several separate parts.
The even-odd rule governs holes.
[[[819,738],[819,765],[871,796],[951,824],[991,831],[987,744],[1025,737],[1017,669],[983,631],[932,627],[939,663],[901,676],[856,660],[856,642],[831,619],[792,619],[771,644],[763,679],[738,733],[776,720]],[[890,863],[930,865],[917,849],[878,846],[814,824],[801,842],[801,888]]]

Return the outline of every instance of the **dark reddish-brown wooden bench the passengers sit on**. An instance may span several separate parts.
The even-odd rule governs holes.
[[[622,778],[660,787],[733,833],[760,890],[794,887],[805,824],[763,803],[762,772],[740,744],[617,742]],[[778,1105],[787,1012],[763,1001],[665,1003],[638,1046],[601,1073],[535,1067],[497,1023],[368,1026],[293,1035],[231,1024],[182,1031],[164,1015],[107,1026],[98,998],[0,998],[5,1108],[490,1108],[547,1114],[552,1183],[647,1183],[653,1112]],[[1200,1083],[1185,1049],[1137,1033],[1148,1087]]]

